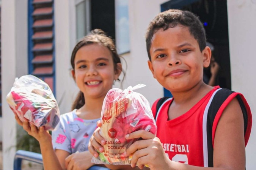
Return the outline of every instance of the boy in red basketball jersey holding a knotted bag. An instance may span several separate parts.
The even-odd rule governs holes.
[[[157,114],[158,100],[152,105],[157,137],[144,130],[126,135],[126,139],[144,139],[126,151],[126,155],[134,153],[131,166],[142,169],[147,165],[151,170],[245,169],[251,111],[242,94],[203,82],[203,68],[210,64],[211,51],[198,18],[188,11],[160,13],[149,24],[146,45],[149,69],[173,98],[166,100]],[[223,101],[209,122],[207,113],[217,108],[211,104],[217,94],[214,102]],[[95,156],[94,148],[103,151],[101,141],[104,139],[96,131],[89,145]]]

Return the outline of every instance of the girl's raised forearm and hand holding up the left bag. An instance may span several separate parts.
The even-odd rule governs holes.
[[[42,153],[44,170],[65,169],[65,158],[70,155],[70,153],[64,150],[58,150],[55,154],[52,147],[52,137],[48,131],[44,130],[44,127],[40,127],[38,129],[35,125],[30,124],[26,119],[24,122],[21,122],[17,115],[15,115],[15,119],[29,135],[38,140]]]

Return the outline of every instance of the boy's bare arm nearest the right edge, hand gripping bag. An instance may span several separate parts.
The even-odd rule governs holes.
[[[225,108],[217,125],[214,138],[214,168],[171,161],[165,155],[160,140],[147,131],[136,131],[126,138],[144,139],[134,142],[126,151],[126,155],[135,152],[132,167],[137,164],[142,169],[146,164],[151,170],[245,170],[243,114],[236,98]]]

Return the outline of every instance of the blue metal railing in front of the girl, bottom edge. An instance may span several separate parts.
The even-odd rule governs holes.
[[[13,164],[14,170],[21,170],[21,162],[23,159],[31,162],[36,162],[38,164],[43,164],[42,155],[40,153],[35,153],[35,152],[25,151],[25,150],[18,150],[16,152],[16,155],[14,156],[14,164]],[[109,170],[109,169],[94,165],[90,167],[88,170]]]

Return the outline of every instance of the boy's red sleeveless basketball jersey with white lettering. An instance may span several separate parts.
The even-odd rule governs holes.
[[[252,123],[251,111],[243,95],[236,92],[230,94],[219,107],[213,124],[210,125],[210,127],[212,127],[212,138],[209,139],[208,137],[207,139],[207,114],[212,99],[218,90],[221,90],[221,88],[215,87],[187,111],[187,113],[170,121],[168,121],[168,109],[173,98],[167,99],[159,108],[156,116],[157,137],[162,142],[166,155],[168,155],[172,161],[200,167],[212,166],[208,165],[208,157],[210,157],[209,159],[212,159],[212,157],[208,156],[209,149],[207,148],[207,142],[209,144],[210,140],[212,146],[214,146],[214,135],[220,116],[229,102],[236,96],[240,96],[241,102],[244,104],[245,114],[247,114],[248,123],[245,130],[245,144],[247,144]],[[158,100],[152,105],[154,116],[156,114]]]

